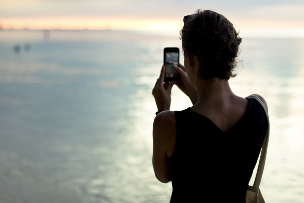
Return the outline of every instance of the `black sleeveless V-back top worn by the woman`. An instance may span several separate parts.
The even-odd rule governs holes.
[[[170,202],[245,202],[268,123],[254,98],[241,121],[224,133],[190,109],[174,111],[176,144],[168,158]]]

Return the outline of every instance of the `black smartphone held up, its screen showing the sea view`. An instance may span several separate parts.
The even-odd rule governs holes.
[[[179,66],[179,48],[166,47],[164,48],[164,65],[165,79],[164,82],[178,81],[179,74],[173,68],[173,65]]]

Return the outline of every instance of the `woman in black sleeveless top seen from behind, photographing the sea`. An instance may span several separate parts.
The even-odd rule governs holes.
[[[181,40],[184,66],[175,67],[180,80],[163,83],[163,66],[152,92],[158,108],[155,175],[163,183],[172,181],[171,202],[245,202],[268,124],[261,105],[235,95],[228,83],[236,76],[241,38],[224,16],[198,10],[184,17]],[[192,107],[169,110],[174,84]]]

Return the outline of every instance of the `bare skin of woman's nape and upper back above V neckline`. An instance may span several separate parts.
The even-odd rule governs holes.
[[[208,117],[223,132],[232,129],[241,120],[248,101],[231,91],[228,80],[195,79],[195,85],[200,99],[191,110]]]

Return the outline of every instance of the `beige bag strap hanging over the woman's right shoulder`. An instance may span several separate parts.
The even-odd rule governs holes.
[[[255,176],[255,180],[254,180],[254,184],[253,184],[253,187],[258,188],[260,186],[261,179],[262,179],[262,174],[263,174],[263,170],[264,170],[264,166],[265,166],[265,160],[266,160],[268,141],[269,141],[269,117],[268,117],[268,111],[267,111],[264,103],[257,96],[253,95],[253,96],[248,96],[247,98],[254,98],[261,104],[261,106],[265,110],[266,117],[267,117],[267,122],[268,122],[268,128],[267,128],[267,132],[266,132],[264,142],[263,142],[263,146],[262,146],[262,150],[261,150],[259,166],[257,167],[257,174]]]

